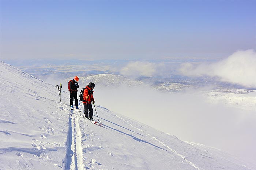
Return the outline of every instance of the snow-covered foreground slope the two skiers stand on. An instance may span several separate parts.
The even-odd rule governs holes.
[[[69,94],[0,62],[0,169],[255,169],[96,105],[97,126]],[[100,103],[95,103],[100,104]],[[94,109],[95,110],[95,109]]]

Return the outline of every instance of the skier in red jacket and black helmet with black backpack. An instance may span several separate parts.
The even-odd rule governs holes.
[[[90,82],[84,89],[83,92],[83,106],[84,106],[84,115],[87,119],[93,120],[93,106],[91,105],[91,102],[94,104],[94,98],[93,98],[93,89],[95,87],[95,84]],[[88,110],[90,115],[88,116]]]

